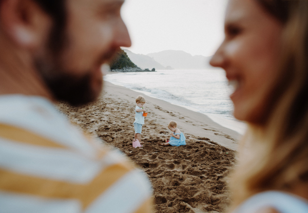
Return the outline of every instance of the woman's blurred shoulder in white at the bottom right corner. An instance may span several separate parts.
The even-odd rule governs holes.
[[[247,199],[234,211],[234,213],[244,212],[304,213],[308,212],[308,201],[282,191],[265,191]]]

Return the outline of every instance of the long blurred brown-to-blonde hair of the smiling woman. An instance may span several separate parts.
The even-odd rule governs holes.
[[[255,0],[284,26],[280,75],[264,126],[249,124],[230,189],[233,208],[308,181],[308,0]]]

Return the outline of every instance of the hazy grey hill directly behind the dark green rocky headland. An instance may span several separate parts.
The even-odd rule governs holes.
[[[123,50],[127,53],[129,59],[141,69],[146,69],[146,68],[166,69],[160,63],[153,60],[152,57],[150,56],[143,55],[143,54],[136,54],[127,49],[123,49]]]

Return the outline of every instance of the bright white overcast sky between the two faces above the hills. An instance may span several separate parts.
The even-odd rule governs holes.
[[[126,49],[213,55],[224,38],[226,6],[227,0],[126,0],[121,14],[132,41]]]

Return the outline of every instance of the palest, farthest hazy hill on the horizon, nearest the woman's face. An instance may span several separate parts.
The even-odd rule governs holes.
[[[175,69],[205,69],[210,67],[209,60],[211,56],[192,56],[181,50],[164,50],[147,55],[164,67],[171,66]]]

